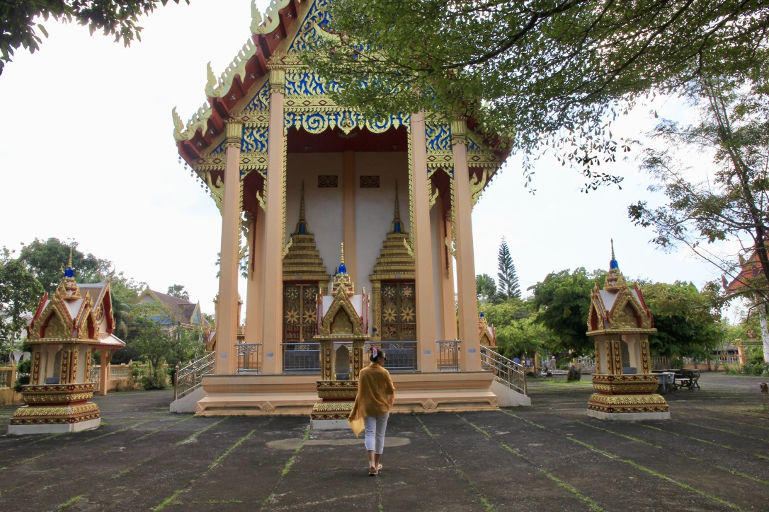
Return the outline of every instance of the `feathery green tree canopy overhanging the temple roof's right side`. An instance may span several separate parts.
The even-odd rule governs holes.
[[[624,147],[608,121],[639,95],[712,70],[765,68],[769,9],[766,0],[335,0],[330,18],[303,60],[342,84],[329,88],[336,101],[372,116],[471,117],[525,154],[558,148],[594,187],[618,181],[597,166]]]

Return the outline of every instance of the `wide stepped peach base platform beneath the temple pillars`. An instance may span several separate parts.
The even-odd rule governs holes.
[[[394,413],[498,410],[491,372],[393,373],[391,377]],[[316,403],[325,403],[318,402],[317,382],[317,375],[206,375],[206,396],[198,401],[195,415],[310,416]]]

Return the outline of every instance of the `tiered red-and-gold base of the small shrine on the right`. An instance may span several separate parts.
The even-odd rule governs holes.
[[[593,375],[598,391],[588,400],[588,416],[602,420],[638,421],[670,419],[667,401],[652,391],[657,375]]]

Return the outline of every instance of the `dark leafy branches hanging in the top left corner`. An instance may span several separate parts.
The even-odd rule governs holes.
[[[174,0],[179,3],[179,0]],[[189,4],[189,0],[185,0]],[[62,21],[76,21],[88,25],[93,34],[97,30],[105,35],[115,35],[115,41],[123,41],[125,46],[136,39],[141,41],[141,27],[136,25],[142,14],[148,14],[168,0],[13,0],[0,3],[0,74],[5,63],[11,61],[13,52],[18,48],[27,48],[34,53],[42,39],[35,30],[48,37],[45,27],[38,23],[39,18],[48,21],[49,17]]]

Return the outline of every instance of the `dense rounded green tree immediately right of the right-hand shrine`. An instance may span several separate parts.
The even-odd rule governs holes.
[[[654,282],[641,291],[657,328],[649,335],[653,354],[710,358],[724,341],[721,315],[713,309],[713,286],[700,292],[691,282]]]

